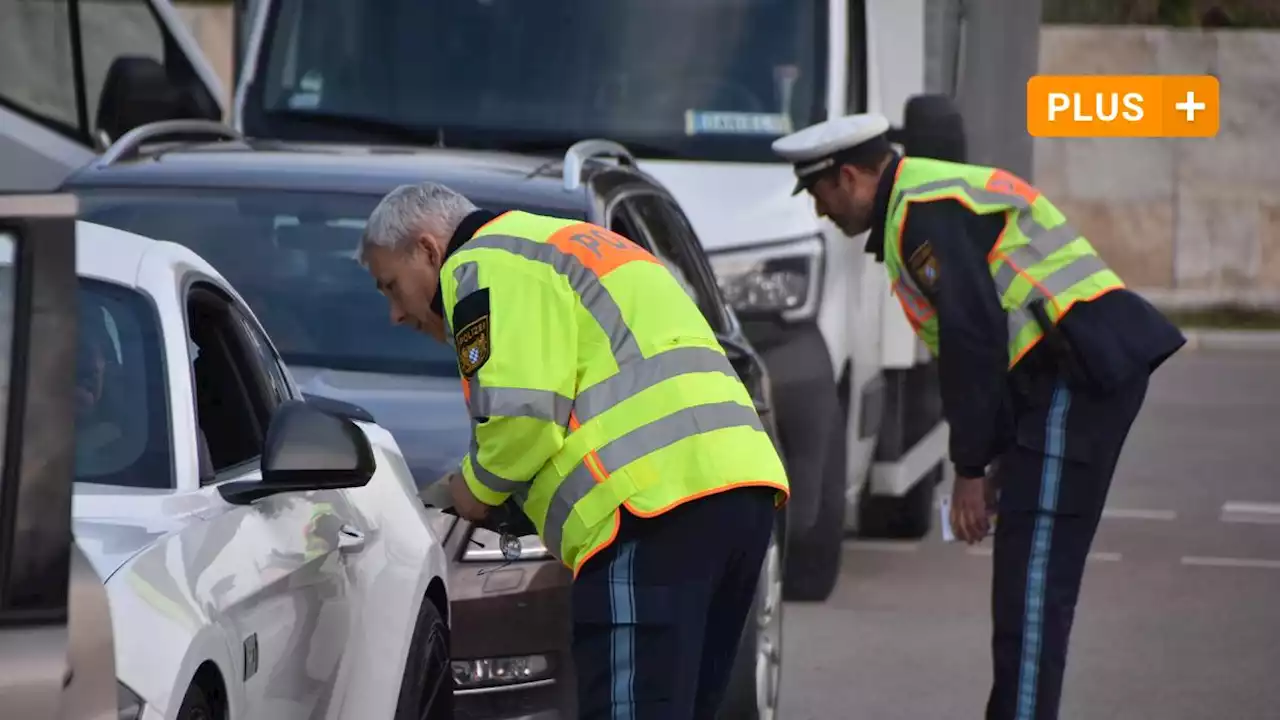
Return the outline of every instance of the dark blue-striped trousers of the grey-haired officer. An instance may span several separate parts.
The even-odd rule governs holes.
[[[713,720],[755,598],[774,491],[735,488],[641,519],[573,582],[579,717]]]

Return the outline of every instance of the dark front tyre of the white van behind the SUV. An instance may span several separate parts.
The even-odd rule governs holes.
[[[836,589],[845,542],[845,464],[847,413],[838,406],[840,418],[832,433],[832,447],[823,468],[820,505],[812,528],[787,538],[786,571],[782,587],[786,600],[822,602]]]

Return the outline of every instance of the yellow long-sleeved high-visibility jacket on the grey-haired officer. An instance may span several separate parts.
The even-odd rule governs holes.
[[[472,418],[463,477],[486,503],[515,497],[575,577],[612,542],[620,507],[648,518],[740,486],[785,502],[786,471],[749,391],[643,247],[511,211],[452,254],[440,282]],[[488,315],[454,327],[481,288]]]

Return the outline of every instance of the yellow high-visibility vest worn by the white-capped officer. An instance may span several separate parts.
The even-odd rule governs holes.
[[[937,316],[915,278],[902,270],[910,263],[902,258],[902,228],[911,205],[934,200],[957,200],[982,215],[1005,214],[1005,229],[987,254],[987,265],[1009,316],[1010,368],[1044,334],[1028,309],[1032,301],[1043,299],[1044,313],[1056,324],[1076,302],[1124,287],[1089,241],[1021,178],[980,165],[902,158],[888,201],[884,269],[908,320],[933,355],[938,354]],[[940,270],[925,260],[922,272]]]

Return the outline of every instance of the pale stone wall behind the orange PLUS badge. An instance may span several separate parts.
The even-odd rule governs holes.
[[[1041,73],[1213,74],[1204,140],[1037,138],[1036,183],[1166,305],[1280,307],[1280,32],[1052,26]]]

